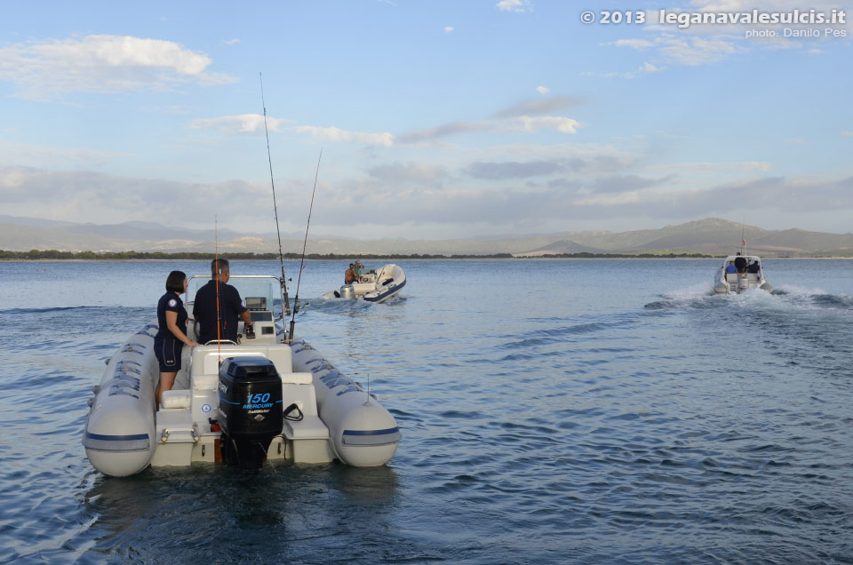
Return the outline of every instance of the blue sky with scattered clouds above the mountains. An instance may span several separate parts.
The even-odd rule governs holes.
[[[304,230],[321,148],[315,235],[851,232],[853,23],[730,23],[753,10],[853,18],[824,0],[4,3],[0,214],[275,231],[262,73],[283,232]]]

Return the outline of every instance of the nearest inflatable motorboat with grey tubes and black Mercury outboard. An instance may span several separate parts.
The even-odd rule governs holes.
[[[192,277],[187,298],[208,280]],[[283,459],[382,466],[394,457],[401,440],[395,418],[304,340],[286,337],[283,314],[274,316],[283,280],[232,275],[228,283],[250,309],[254,338],[241,320],[236,343],[185,346],[175,386],[156,407],[156,320],[132,335],[94,388],[83,439],[92,466],[127,476],[149,465],[258,467]],[[195,335],[192,319],[187,333]]]

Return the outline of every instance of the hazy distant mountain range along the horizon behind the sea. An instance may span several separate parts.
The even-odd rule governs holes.
[[[309,237],[308,253],[339,255],[491,255],[538,257],[572,253],[703,253],[725,255],[740,248],[767,257],[853,257],[853,234],[801,229],[766,230],[709,218],[678,226],[630,232],[581,231],[552,235],[507,236],[434,241],[355,240]],[[212,252],[212,230],[167,227],[155,222],[77,224],[0,215],[0,250],[30,251],[195,251]],[[275,234],[219,230],[219,251],[275,252]],[[284,252],[301,252],[302,235],[283,234]]]

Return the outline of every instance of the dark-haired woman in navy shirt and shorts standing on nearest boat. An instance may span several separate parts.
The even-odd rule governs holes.
[[[155,395],[157,406],[163,401],[163,391],[171,390],[180,370],[180,354],[184,344],[198,344],[187,338],[187,308],[180,295],[187,291],[187,275],[183,271],[172,271],[166,277],[166,293],[157,303],[157,335],[154,338],[154,354],[160,363],[160,380]]]

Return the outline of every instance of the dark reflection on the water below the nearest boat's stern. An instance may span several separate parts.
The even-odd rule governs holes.
[[[196,465],[101,478],[84,496],[98,521],[93,551],[171,562],[293,559],[311,547],[376,543],[398,497],[394,469],[267,465],[257,472]],[[341,521],[341,516],[358,519]],[[140,543],[140,532],[149,543]]]

